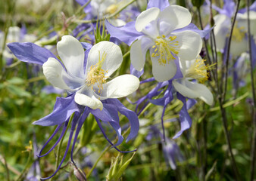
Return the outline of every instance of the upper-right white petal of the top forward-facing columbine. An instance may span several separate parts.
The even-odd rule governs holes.
[[[189,25],[192,17],[188,9],[179,5],[170,5],[161,11],[159,19],[170,23],[173,29],[180,29]]]

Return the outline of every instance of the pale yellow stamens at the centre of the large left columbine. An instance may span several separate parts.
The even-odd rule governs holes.
[[[101,69],[106,57],[107,54],[105,52],[103,52],[102,57],[100,55],[100,52],[98,52],[98,63],[90,67],[89,73],[86,76],[87,86],[92,86],[96,84],[98,87],[98,94],[101,94],[103,90],[102,85],[106,83],[106,78],[108,78],[105,76],[105,73],[108,73],[108,70]],[[93,86],[92,90],[94,90]]]

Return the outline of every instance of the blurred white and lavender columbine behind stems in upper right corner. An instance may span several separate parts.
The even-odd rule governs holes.
[[[251,7],[255,6],[251,5]],[[231,0],[225,1],[223,9],[215,8],[219,14],[214,17],[216,24],[214,28],[214,35],[216,37],[217,50],[224,52],[226,48],[226,39],[230,35],[231,20],[235,11],[234,2]],[[256,35],[256,31],[253,28],[256,23],[255,8],[250,8],[250,23],[251,23],[251,36]],[[239,11],[236,17],[236,23],[233,28],[232,44],[230,45],[230,54],[233,57],[237,57],[245,51],[248,51],[248,34],[247,34],[247,11]],[[251,38],[251,43],[254,43],[254,38]]]

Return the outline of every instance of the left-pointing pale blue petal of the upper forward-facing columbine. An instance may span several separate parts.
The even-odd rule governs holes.
[[[136,39],[143,35],[142,32],[137,32],[135,29],[135,21],[126,23],[124,26],[115,27],[111,25],[111,23],[108,23],[108,20],[105,20],[105,26],[108,29],[109,34],[111,34],[111,37],[117,38],[129,46],[133,41],[136,41]]]

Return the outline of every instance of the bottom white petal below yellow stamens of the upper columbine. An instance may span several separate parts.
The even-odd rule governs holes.
[[[150,50],[150,54],[154,52],[153,48]],[[157,81],[168,81],[170,78],[173,78],[173,76],[176,74],[176,64],[173,60],[170,60],[169,63],[166,63],[165,65],[160,65],[158,63],[158,57],[151,57],[152,61],[152,73]]]

